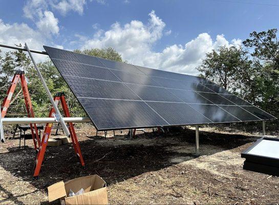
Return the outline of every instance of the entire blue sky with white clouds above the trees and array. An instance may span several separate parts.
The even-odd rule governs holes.
[[[1,0],[0,42],[34,49],[111,46],[133,64],[197,74],[206,52],[278,28],[274,5],[279,1]]]

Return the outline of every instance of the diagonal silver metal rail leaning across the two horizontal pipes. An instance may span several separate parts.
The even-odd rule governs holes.
[[[28,54],[29,54],[29,56],[30,56],[30,58],[31,58],[31,60],[32,60],[32,63],[33,63],[33,65],[34,65],[34,67],[35,67],[35,69],[36,69],[36,71],[37,71],[37,74],[38,74],[38,76],[39,76],[39,78],[40,78],[40,80],[41,80],[41,83],[42,83],[42,85],[44,86],[44,88],[45,88],[45,90],[46,90],[46,92],[47,92],[47,94],[48,94],[48,96],[49,96],[49,99],[50,99],[51,104],[52,104],[52,106],[53,106],[53,108],[54,108],[54,110],[55,110],[56,115],[59,116],[59,122],[60,122],[60,124],[61,124],[61,126],[62,126],[62,129],[64,130],[65,134],[66,134],[67,136],[69,136],[69,135],[70,135],[69,129],[68,129],[68,127],[67,127],[65,121],[63,120],[62,115],[61,115],[61,113],[60,113],[60,111],[59,111],[57,105],[55,104],[55,102],[54,102],[54,100],[53,100],[53,98],[52,98],[51,92],[50,92],[50,90],[49,90],[49,88],[48,88],[48,86],[47,86],[47,84],[46,84],[46,82],[45,82],[45,80],[44,80],[44,77],[42,77],[42,75],[41,75],[41,73],[40,73],[40,71],[39,71],[39,69],[38,69],[38,67],[37,67],[37,65],[36,65],[36,62],[35,62],[35,60],[34,60],[34,58],[33,58],[33,56],[32,56],[32,54],[31,54],[31,52],[30,52],[30,50],[29,50],[29,48],[28,48],[28,46],[27,46],[26,43],[25,43],[25,49],[27,50],[27,52],[28,52]],[[56,118],[57,118],[57,117],[56,117]]]

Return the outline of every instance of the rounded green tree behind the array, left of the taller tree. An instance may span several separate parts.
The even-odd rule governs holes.
[[[242,97],[248,89],[247,82],[251,81],[251,60],[242,47],[221,46],[212,50],[197,69],[202,76]]]

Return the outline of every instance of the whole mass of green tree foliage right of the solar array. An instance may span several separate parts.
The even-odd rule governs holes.
[[[234,94],[279,117],[277,29],[250,33],[247,48],[219,47],[206,54],[198,70]],[[248,52],[250,51],[250,52]]]

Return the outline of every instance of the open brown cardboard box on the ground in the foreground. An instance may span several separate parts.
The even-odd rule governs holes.
[[[70,189],[76,193],[81,188],[84,194],[69,196]],[[48,187],[49,202],[60,199],[61,204],[108,204],[106,183],[98,175],[75,178],[66,182],[59,181]]]

